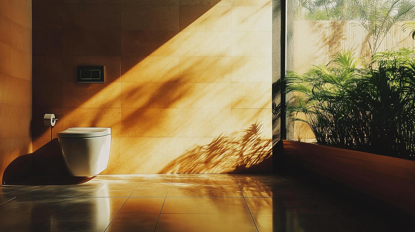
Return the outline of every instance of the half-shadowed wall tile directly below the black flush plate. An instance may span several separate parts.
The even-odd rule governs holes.
[[[63,85],[63,107],[120,108],[120,91],[120,82],[66,82]]]

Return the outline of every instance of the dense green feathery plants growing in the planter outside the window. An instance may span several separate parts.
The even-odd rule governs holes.
[[[370,65],[338,53],[327,65],[286,73],[296,101],[287,111],[304,114],[317,143],[414,160],[415,50],[375,53]]]

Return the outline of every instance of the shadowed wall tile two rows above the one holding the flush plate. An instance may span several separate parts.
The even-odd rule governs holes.
[[[120,5],[64,4],[63,26],[65,29],[120,29]]]

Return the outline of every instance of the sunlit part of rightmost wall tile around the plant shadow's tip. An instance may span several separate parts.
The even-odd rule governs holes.
[[[232,109],[232,136],[238,137],[245,134],[255,123],[261,130],[261,137],[272,138],[272,109]]]

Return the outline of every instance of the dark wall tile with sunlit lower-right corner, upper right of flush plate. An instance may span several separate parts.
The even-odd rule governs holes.
[[[178,56],[177,31],[121,31],[122,56]]]

